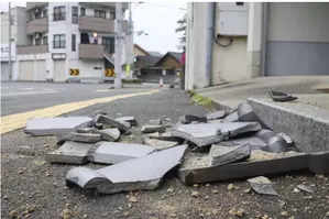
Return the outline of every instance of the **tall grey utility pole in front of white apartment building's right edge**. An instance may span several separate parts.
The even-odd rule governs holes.
[[[116,51],[114,51],[114,88],[122,88],[122,2],[116,3]]]

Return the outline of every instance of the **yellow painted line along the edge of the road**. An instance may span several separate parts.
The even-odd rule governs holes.
[[[41,117],[57,117],[59,114],[64,114],[67,112],[72,112],[81,108],[90,107],[97,103],[105,103],[111,102],[118,99],[124,99],[130,97],[136,96],[144,96],[144,95],[153,95],[158,92],[158,89],[150,90],[145,92],[134,92],[134,94],[127,94],[127,95],[117,95],[113,97],[103,97],[103,98],[96,98],[91,100],[84,100],[77,102],[69,102],[64,105],[57,105],[53,107],[47,107],[43,109],[37,109],[33,111],[17,113],[17,114],[9,114],[6,117],[0,118],[1,130],[0,134],[23,128],[26,125],[26,121],[33,118],[41,118]]]

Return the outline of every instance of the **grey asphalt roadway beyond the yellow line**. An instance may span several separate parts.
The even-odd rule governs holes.
[[[127,85],[109,89],[110,84],[1,83],[1,116],[31,111],[61,103],[146,91],[156,85]]]

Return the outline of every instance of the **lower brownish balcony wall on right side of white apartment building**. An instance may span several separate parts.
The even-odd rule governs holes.
[[[79,58],[103,58],[105,47],[101,44],[79,44]]]

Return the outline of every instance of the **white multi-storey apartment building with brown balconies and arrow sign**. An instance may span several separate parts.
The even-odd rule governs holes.
[[[105,78],[113,68],[114,23],[114,2],[28,2],[28,43],[17,48],[13,79]]]

